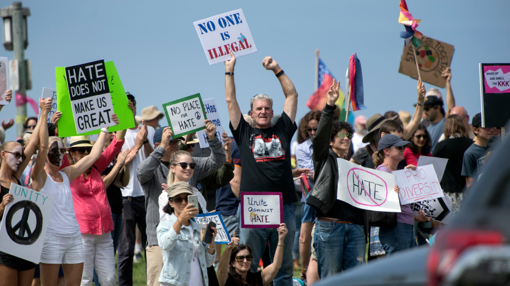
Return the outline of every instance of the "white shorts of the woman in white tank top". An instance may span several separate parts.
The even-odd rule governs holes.
[[[83,263],[82,235],[78,234],[74,237],[59,237],[46,234],[42,245],[41,263]]]

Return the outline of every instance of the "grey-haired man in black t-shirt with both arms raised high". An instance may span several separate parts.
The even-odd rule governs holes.
[[[292,81],[278,64],[266,56],[262,65],[274,72],[286,97],[281,118],[271,126],[273,118],[273,100],[264,94],[251,98],[250,117],[256,124],[251,127],[243,118],[236,99],[234,83],[234,66],[236,57],[225,62],[225,97],[230,117],[230,129],[236,139],[243,168],[241,169],[240,192],[282,192],[283,221],[289,234],[284,245],[278,245],[276,228],[241,228],[241,243],[252,249],[251,269],[256,272],[259,260],[264,252],[266,242],[270,253],[276,247],[284,247],[284,259],[273,283],[275,286],[292,285],[292,243],[296,230],[294,202],[297,201],[292,179],[290,162],[290,142],[297,130],[295,121],[297,109],[297,92]],[[246,215],[239,212],[239,216]],[[239,218],[241,221],[241,218]]]

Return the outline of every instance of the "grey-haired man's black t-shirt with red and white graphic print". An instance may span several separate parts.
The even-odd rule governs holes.
[[[236,139],[243,168],[241,192],[281,192],[283,203],[297,202],[290,158],[290,142],[297,130],[285,112],[274,126],[265,129],[251,127],[241,116]]]

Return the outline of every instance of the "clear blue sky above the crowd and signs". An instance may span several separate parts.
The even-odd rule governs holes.
[[[226,127],[224,65],[209,66],[193,22],[241,8],[258,48],[237,60],[236,88],[243,111],[258,93],[273,97],[275,113],[283,109],[279,82],[262,67],[262,59],[270,55],[296,86],[300,120],[309,111],[305,103],[315,90],[315,49],[337,77],[345,74],[349,56],[358,54],[368,108],[355,115],[414,111],[416,80],[398,73],[403,48],[399,33],[404,30],[398,23],[398,0],[232,3],[23,1],[32,14],[25,58],[32,61],[33,88],[27,94],[36,99],[43,87],[55,88],[55,67],[105,59],[115,63],[125,90],[136,96],[139,113],[147,105],[163,110],[163,103],[200,93],[204,99],[216,99]],[[2,7],[7,5],[11,3]],[[408,0],[407,6],[422,20],[420,32],[455,47],[453,93],[457,105],[473,116],[480,111],[478,63],[510,62],[510,2]],[[0,56],[12,59],[13,52],[2,46]],[[2,110],[0,120],[15,118],[13,103]],[[164,120],[160,124],[166,125]],[[14,136],[12,127],[7,139]]]

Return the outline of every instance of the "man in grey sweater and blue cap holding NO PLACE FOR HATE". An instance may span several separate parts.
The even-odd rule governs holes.
[[[206,158],[193,157],[194,168],[190,185],[195,186],[196,181],[217,171],[226,161],[225,152],[221,146],[220,139],[216,136],[216,126],[211,120],[206,120],[206,135],[211,155]],[[179,151],[179,142],[183,137],[173,138],[173,131],[170,127],[161,127],[154,133],[154,151],[143,160],[136,169],[137,178],[140,181],[145,193],[145,209],[147,222],[147,286],[160,285],[159,276],[163,268],[161,247],[158,245],[156,227],[160,222],[158,197],[161,195],[161,184],[167,183],[167,176],[170,169],[170,158],[173,153]],[[183,168],[188,167],[187,165]],[[168,199],[165,194],[166,202]],[[145,231],[145,230],[144,230]]]

